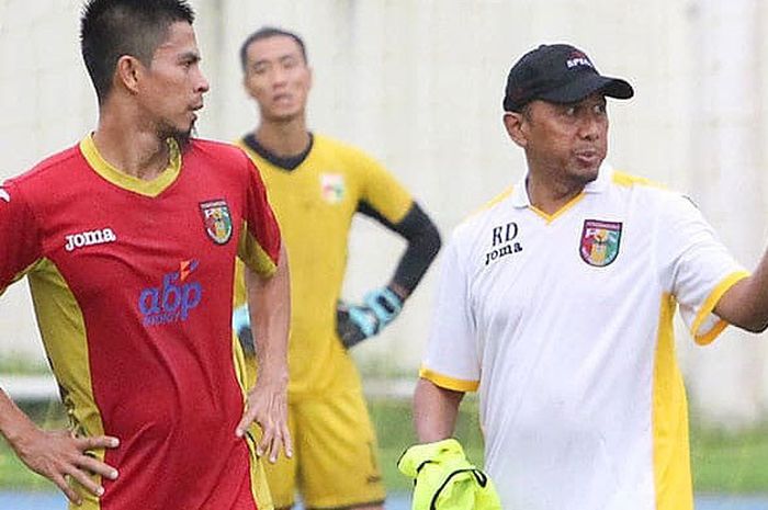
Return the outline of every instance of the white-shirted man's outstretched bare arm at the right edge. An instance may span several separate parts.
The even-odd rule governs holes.
[[[723,294],[714,313],[747,331],[761,332],[768,328],[768,251],[752,275]]]

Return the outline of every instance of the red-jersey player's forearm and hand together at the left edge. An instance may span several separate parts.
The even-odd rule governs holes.
[[[93,481],[91,474],[117,478],[115,468],[88,455],[90,450],[117,447],[117,438],[76,438],[66,430],[41,430],[1,389],[0,433],[30,469],[52,480],[77,505],[82,498],[67,483],[67,477],[97,496],[104,494],[104,489]]]

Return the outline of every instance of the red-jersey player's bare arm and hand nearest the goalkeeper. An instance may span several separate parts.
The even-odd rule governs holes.
[[[291,318],[291,284],[285,246],[280,249],[278,269],[263,277],[246,267],[246,288],[259,366],[256,385],[248,392],[248,403],[237,434],[242,435],[256,421],[262,430],[257,453],[269,452],[278,460],[280,449],[293,455],[287,428],[287,338]]]

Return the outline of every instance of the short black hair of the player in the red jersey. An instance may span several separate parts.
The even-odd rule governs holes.
[[[124,55],[149,66],[176,22],[192,24],[187,0],[89,0],[80,18],[80,49],[103,103],[112,89],[117,60]]]

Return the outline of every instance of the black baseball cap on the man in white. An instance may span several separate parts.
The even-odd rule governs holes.
[[[542,44],[523,55],[509,70],[505,112],[519,112],[533,100],[575,103],[595,92],[630,99],[632,86],[621,78],[600,76],[589,57],[568,44]]]

